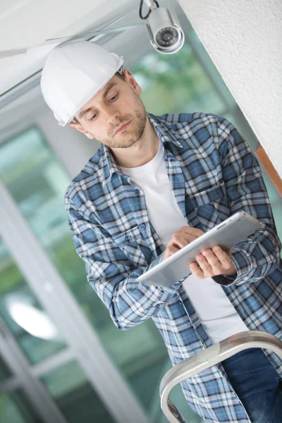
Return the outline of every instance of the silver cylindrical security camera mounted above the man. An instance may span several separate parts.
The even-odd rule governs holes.
[[[166,54],[176,53],[184,44],[184,32],[173,8],[158,7],[146,20],[152,46]]]

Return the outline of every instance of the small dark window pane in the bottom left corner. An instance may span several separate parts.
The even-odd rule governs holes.
[[[23,392],[0,396],[0,423],[42,423]]]

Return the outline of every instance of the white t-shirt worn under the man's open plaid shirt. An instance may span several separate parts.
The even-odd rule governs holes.
[[[121,167],[121,171],[144,193],[149,221],[166,246],[174,232],[187,226],[187,220],[173,195],[163,148],[160,142],[156,156],[147,164],[135,168]],[[183,287],[212,343],[248,330],[221,286],[212,278],[196,279],[191,274],[183,281]]]

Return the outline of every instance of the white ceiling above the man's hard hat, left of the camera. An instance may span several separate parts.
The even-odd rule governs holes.
[[[139,4],[140,0],[1,0],[0,101],[1,94],[42,69],[49,51],[66,40],[63,37],[102,29],[114,30],[126,25],[142,27],[146,32],[145,23],[139,18]],[[176,0],[159,0],[159,5],[173,6],[178,14],[183,13]],[[145,11],[147,6],[143,7]],[[126,31],[126,44],[136,32],[131,27]],[[61,39],[46,42],[54,38]],[[147,33],[142,42],[149,46]],[[10,50],[25,52],[1,56]]]

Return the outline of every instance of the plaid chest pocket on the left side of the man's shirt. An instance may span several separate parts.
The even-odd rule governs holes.
[[[118,235],[113,236],[113,240],[122,250],[123,254],[128,257],[129,261],[135,265],[137,269],[140,266],[147,266],[147,260],[143,254],[143,247],[148,247],[145,240],[142,238],[140,228],[134,226],[133,228],[123,231]]]

